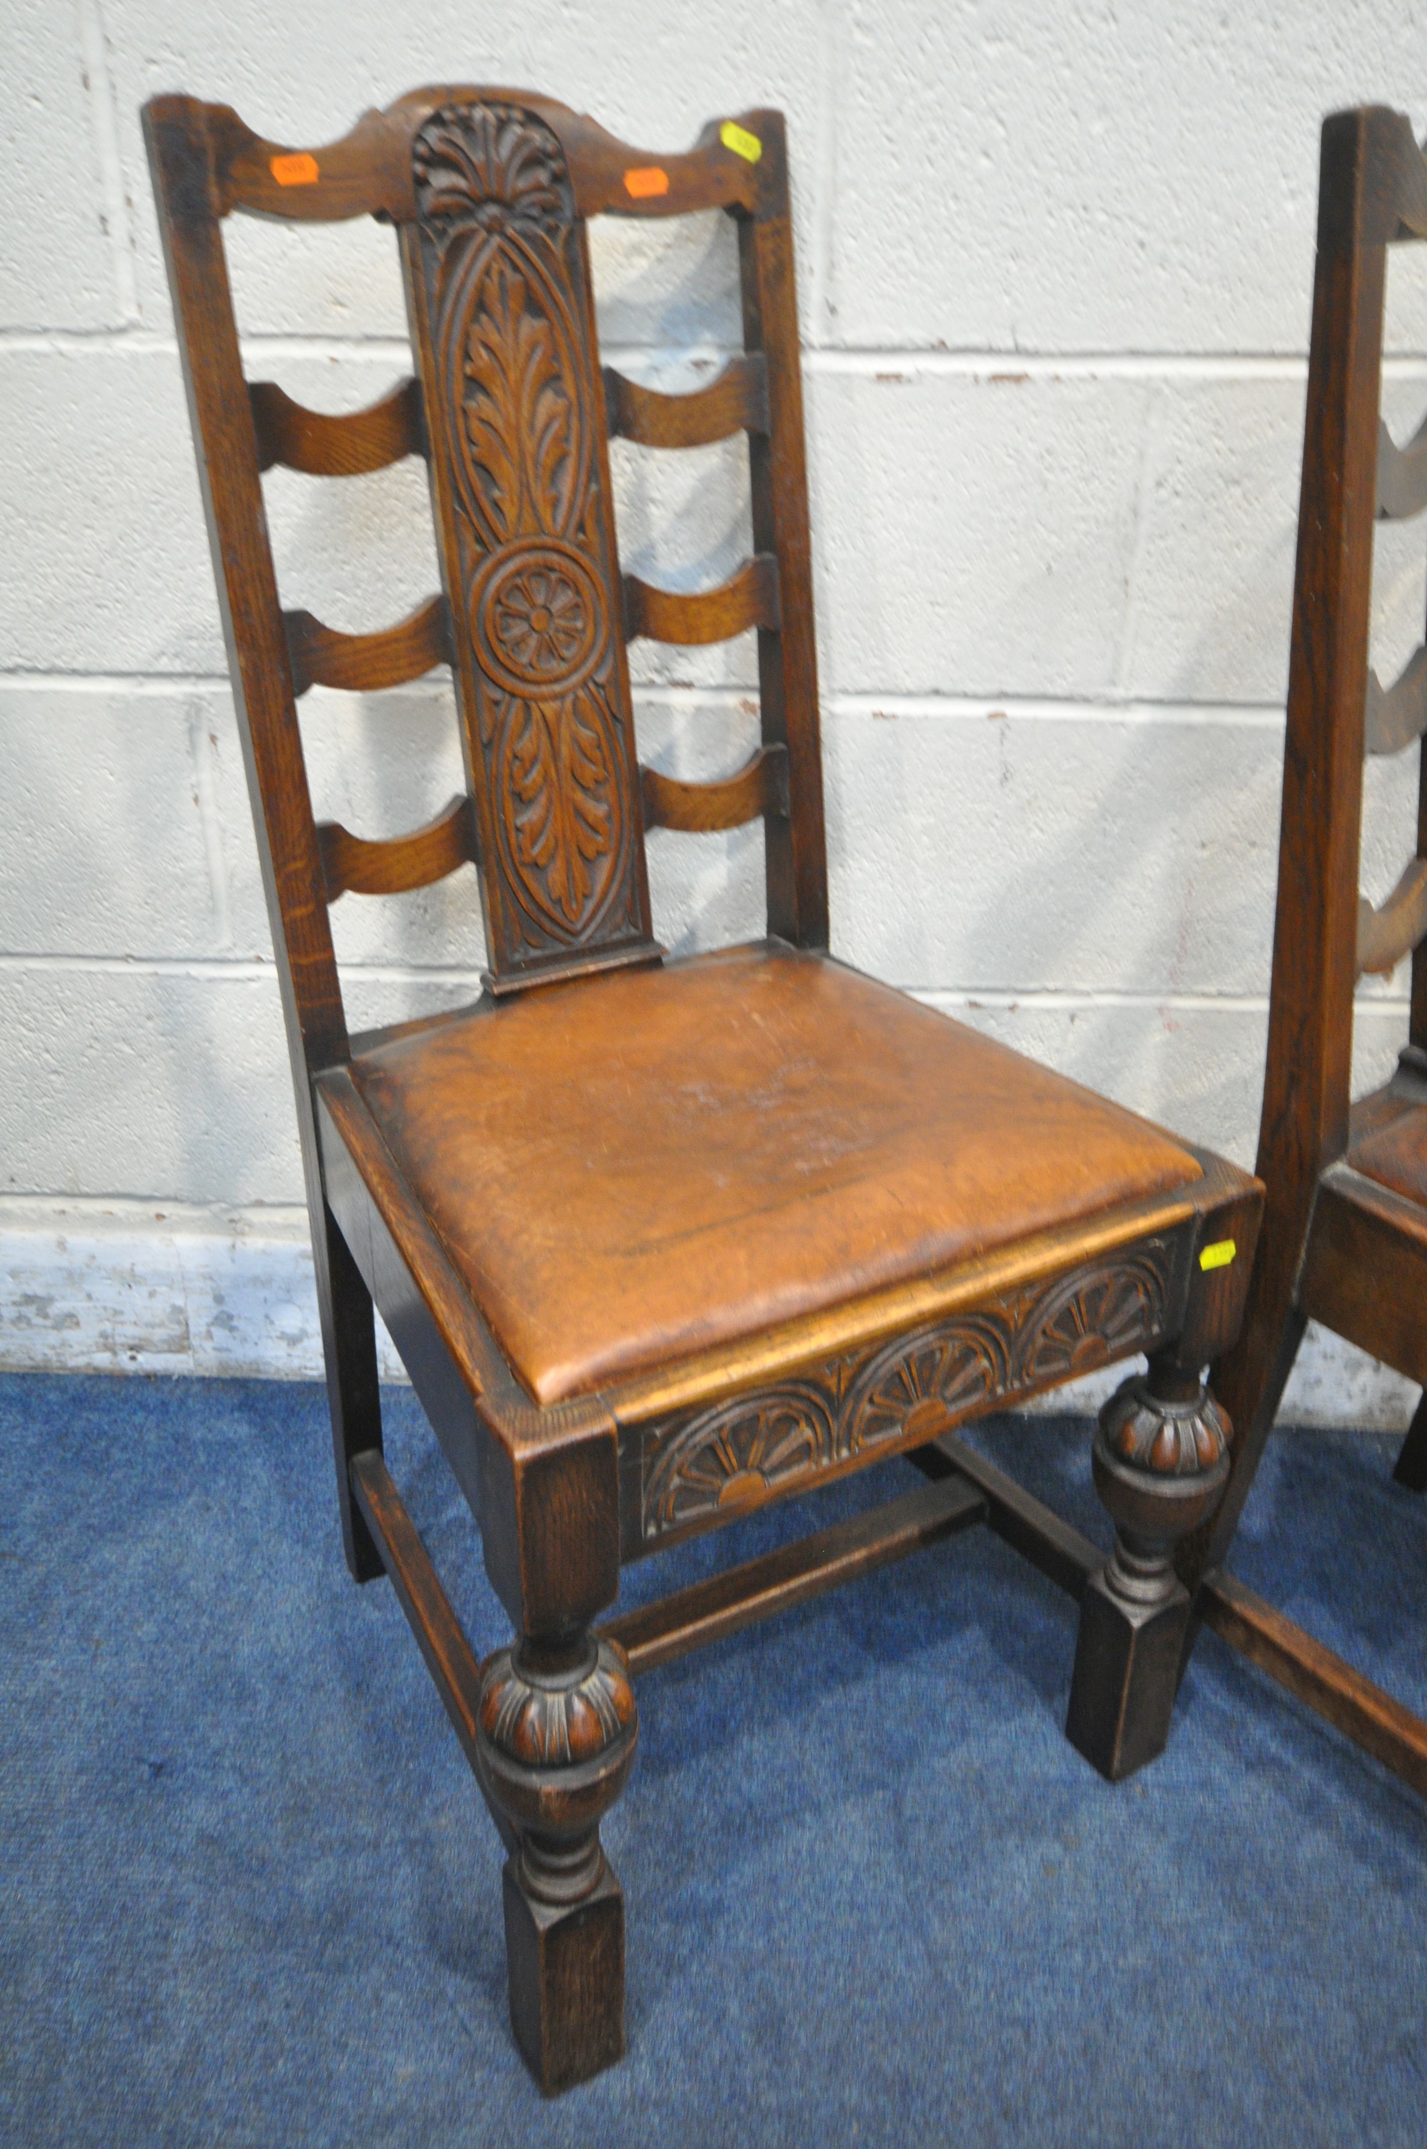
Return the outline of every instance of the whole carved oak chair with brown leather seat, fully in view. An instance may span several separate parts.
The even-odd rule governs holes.
[[[329,148],[224,105],[146,107],[312,1203],[346,1556],[391,1575],[509,1850],[511,2022],[544,2089],[623,2050],[623,1898],[600,1846],[638,1676],[971,1521],[1081,1599],[1068,1734],[1109,1777],[1165,1743],[1219,1498],[1262,1188],[827,954],[793,241],[778,112],[688,155],[524,90],[432,88]],[[671,398],[600,372],[587,219],[722,208],[746,350]],[[395,226],[415,378],[350,417],[243,378],[234,211]],[[724,587],[621,576],[608,436],[748,436]],[[348,636],[284,612],[260,473],[430,464],[443,593]],[[625,643],[756,628],[763,744],[714,784],[640,769]],[[469,789],[372,842],[314,825],[297,698],[449,664]],[[651,827],[761,817],[767,939],[666,961]],[[488,978],[348,1036],[329,905],[475,866]],[[477,1663],[383,1461],[372,1302],[479,1521],[516,1640]],[[1150,1354],[1094,1472],[1109,1562],[950,1436]],[[873,1517],[597,1627],[621,1562],[888,1455]]]

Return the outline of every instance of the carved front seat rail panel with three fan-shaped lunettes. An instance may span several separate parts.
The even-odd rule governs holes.
[[[707,1526],[877,1446],[916,1446],[961,1418],[1167,1332],[1178,1304],[1173,1236],[1085,1261],[873,1350],[651,1427],[640,1534]]]

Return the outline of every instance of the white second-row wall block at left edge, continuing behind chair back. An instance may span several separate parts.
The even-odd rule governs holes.
[[[361,408],[400,372],[361,355],[254,365],[318,410]],[[9,350],[0,400],[28,413],[0,449],[0,514],[15,531],[0,670],[226,673],[176,357]],[[275,468],[264,503],[286,608],[372,632],[441,587],[415,458],[340,481]],[[647,578],[671,589],[724,580],[750,550],[741,443],[688,458],[621,447],[617,518],[625,563]],[[698,651],[640,643],[634,668],[709,683],[756,677],[750,634]]]

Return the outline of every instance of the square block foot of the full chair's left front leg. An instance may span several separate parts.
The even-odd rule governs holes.
[[[527,1895],[505,1865],[509,2022],[548,2097],[623,2059],[623,1889],[615,1867],[582,1902]]]

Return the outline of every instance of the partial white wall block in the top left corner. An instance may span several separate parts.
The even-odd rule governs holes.
[[[6,30],[0,329],[107,329],[125,236],[110,228],[118,170],[101,157],[107,86],[86,80],[80,9],[32,6]]]

